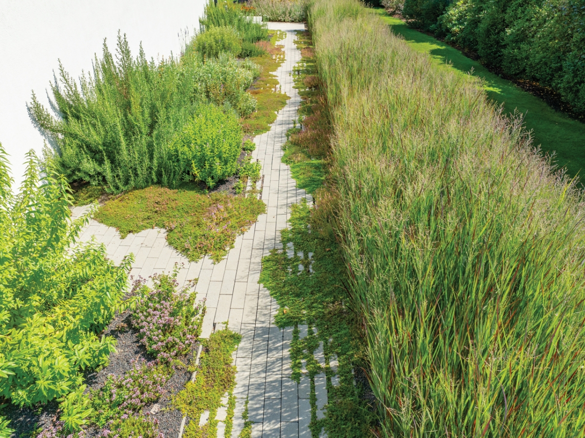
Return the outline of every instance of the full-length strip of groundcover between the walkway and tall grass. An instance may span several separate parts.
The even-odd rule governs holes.
[[[359,383],[354,385],[352,373],[354,367],[366,364],[366,352],[359,323],[345,306],[350,300],[345,287],[346,270],[330,225],[335,199],[324,189],[331,125],[318,84],[313,79],[307,80],[314,78],[316,72],[310,36],[306,32],[297,35],[297,47],[303,55],[294,78],[303,99],[300,114],[307,116],[304,120],[314,118],[309,123],[302,120],[302,128],[291,130],[292,141],[285,145],[283,161],[291,165],[297,185],[315,194],[317,208],[311,208],[306,199],[291,206],[289,227],[281,231],[281,242],[284,248],[292,244],[292,257],[286,250],[271,251],[262,261],[260,283],[280,306],[276,325],[295,327],[290,347],[291,378],[297,382],[301,378],[311,380],[312,436],[319,437],[324,429],[330,438],[362,438],[372,436],[376,418],[363,397],[367,388]],[[315,108],[319,110],[317,116]],[[321,132],[315,135],[316,130]],[[314,161],[318,161],[318,166]],[[312,253],[310,259],[309,253]],[[301,339],[298,326],[303,324],[315,328],[316,333],[309,330],[308,336]],[[313,355],[320,342],[326,364],[319,364]],[[337,373],[328,366],[333,357],[339,362]],[[303,362],[307,377],[302,377]],[[325,418],[317,419],[314,377],[321,373],[327,378],[328,404]],[[339,385],[333,386],[331,378],[335,374],[339,376]]]

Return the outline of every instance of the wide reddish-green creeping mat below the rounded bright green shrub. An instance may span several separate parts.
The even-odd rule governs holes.
[[[95,218],[116,227],[122,238],[152,227],[165,228],[168,244],[189,260],[209,254],[219,261],[265,208],[254,196],[153,186],[110,199]]]

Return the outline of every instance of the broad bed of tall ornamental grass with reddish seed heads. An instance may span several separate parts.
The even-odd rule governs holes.
[[[585,436],[581,192],[357,1],[308,21],[381,434]]]

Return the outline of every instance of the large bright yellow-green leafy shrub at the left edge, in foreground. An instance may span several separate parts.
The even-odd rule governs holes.
[[[35,154],[13,195],[0,146],[0,395],[19,406],[80,387],[115,340],[99,333],[121,307],[131,258],[116,267],[102,246],[75,246],[89,216],[71,221],[64,177]]]

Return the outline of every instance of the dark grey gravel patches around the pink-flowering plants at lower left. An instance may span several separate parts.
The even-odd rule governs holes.
[[[137,337],[138,332],[132,328],[130,314],[131,312],[127,310],[117,315],[102,333],[105,336],[112,336],[118,341],[116,344],[117,352],[110,354],[107,367],[85,373],[86,392],[89,392],[90,389],[101,388],[110,374],[123,375],[132,370],[136,360],[152,361],[154,359],[150,354],[146,353],[146,348],[140,344]],[[194,349],[197,348],[198,344],[195,344]],[[190,363],[191,358],[192,353],[188,356],[179,357],[185,364]],[[149,414],[152,418],[159,420],[159,430],[166,438],[178,436],[181,420],[183,420],[181,412],[178,409],[171,408],[171,397],[183,389],[190,378],[191,373],[187,370],[187,367],[177,368],[173,377],[168,379],[164,385],[164,394],[161,395],[159,401],[144,408],[144,414]],[[2,415],[11,420],[9,427],[15,429],[15,433],[11,437],[28,438],[35,430],[48,429],[51,423],[58,420],[58,408],[59,403],[54,400],[36,409],[8,405],[2,410]],[[90,427],[86,432],[86,436],[91,438],[96,437],[99,430],[95,429],[95,427]]]

